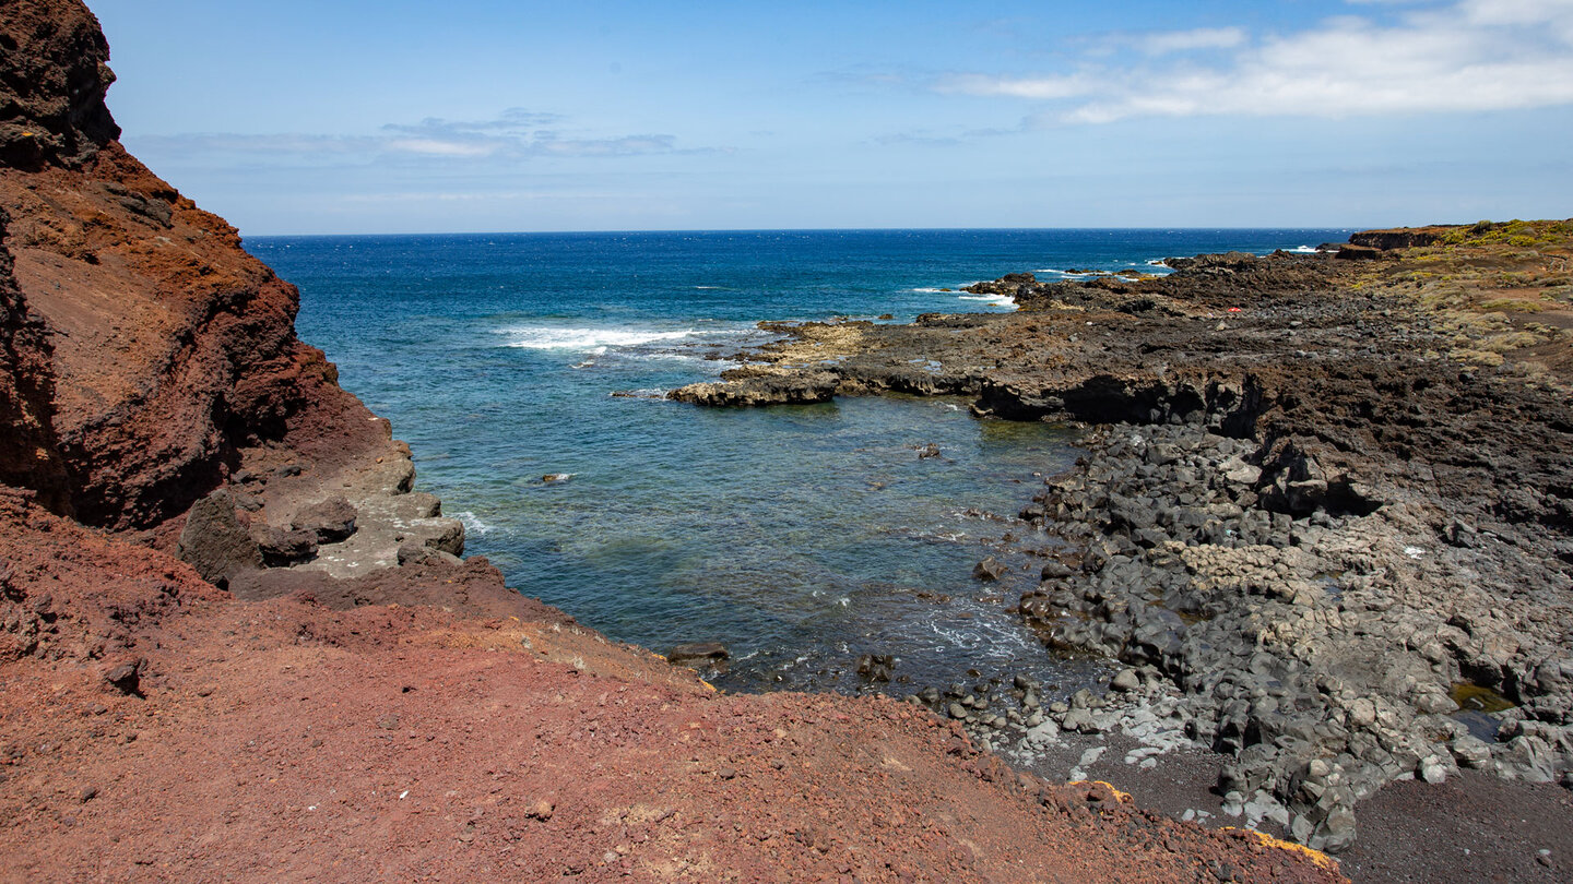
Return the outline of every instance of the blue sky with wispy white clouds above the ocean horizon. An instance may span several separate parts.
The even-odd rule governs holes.
[[[1573,214],[1573,0],[90,0],[247,234]]]

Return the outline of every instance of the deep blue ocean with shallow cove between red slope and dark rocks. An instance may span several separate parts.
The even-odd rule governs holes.
[[[1065,428],[964,401],[706,411],[661,398],[769,340],[764,319],[1011,310],[955,291],[1007,272],[1159,271],[1350,230],[911,230],[250,238],[300,288],[300,337],[411,444],[417,486],[511,587],[656,651],[717,640],[728,689],[898,694],[1030,672],[1074,689],[1007,607],[1041,562],[999,555],[1068,467]],[[945,291],[952,289],[952,291]],[[934,444],[939,458],[919,458]],[[562,481],[543,481],[566,475]],[[1049,546],[1048,538],[1027,538]]]

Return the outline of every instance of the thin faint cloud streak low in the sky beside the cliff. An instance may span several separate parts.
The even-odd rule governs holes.
[[[599,137],[565,134],[568,120],[555,113],[510,109],[495,120],[455,121],[426,118],[389,123],[374,135],[236,135],[189,134],[137,138],[138,149],[165,154],[250,159],[296,165],[343,162],[477,162],[532,157],[629,157],[645,154],[716,153],[716,148],[680,148],[675,135],[629,134]]]

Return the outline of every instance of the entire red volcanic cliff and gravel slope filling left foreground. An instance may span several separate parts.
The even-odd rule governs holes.
[[[722,697],[461,560],[294,289],[0,5],[5,881],[1335,881],[890,700]]]

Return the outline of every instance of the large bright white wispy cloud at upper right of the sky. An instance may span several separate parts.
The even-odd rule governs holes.
[[[1041,76],[964,72],[944,94],[1055,102],[1055,123],[1133,116],[1359,116],[1573,104],[1573,0],[1463,0],[1398,14],[1342,16],[1287,35],[1236,27],[1150,33],[1115,63],[1090,50]]]

